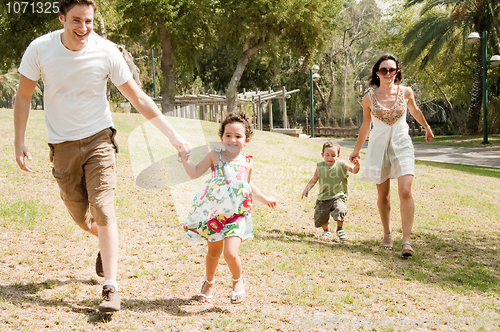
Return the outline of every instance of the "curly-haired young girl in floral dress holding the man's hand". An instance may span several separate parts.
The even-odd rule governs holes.
[[[219,257],[224,259],[233,275],[231,303],[245,297],[241,259],[238,249],[242,241],[253,237],[252,197],[269,207],[276,206],[274,197],[267,197],[251,181],[252,157],[242,152],[253,134],[245,113],[229,113],[221,124],[219,135],[224,148],[209,152],[197,165],[189,153],[181,153],[186,172],[192,179],[202,176],[210,167],[212,177],[205,182],[193,199],[187,221],[182,223],[187,236],[195,241],[204,237],[208,244],[206,279],[199,299],[210,302]]]

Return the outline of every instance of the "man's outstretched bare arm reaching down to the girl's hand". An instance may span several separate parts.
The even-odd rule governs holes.
[[[165,119],[153,99],[144,93],[133,79],[130,79],[127,83],[117,88],[146,119],[151,121],[159,131],[167,136],[174,148],[178,151],[184,151],[190,148],[189,143],[187,143]]]

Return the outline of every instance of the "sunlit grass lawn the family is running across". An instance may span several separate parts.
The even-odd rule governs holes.
[[[246,150],[255,159],[252,177],[279,204],[254,204],[255,237],[240,250],[245,301],[230,304],[231,275],[221,258],[214,300],[203,304],[194,296],[206,244],[190,242],[178,226],[199,182],[183,180],[175,152],[140,115],[113,116],[122,310],[103,315],[96,311],[103,281],[94,272],[97,240],[73,224],[59,198],[43,112],[32,111],[28,123],[29,174],[14,160],[12,111],[0,110],[0,331],[498,330],[498,173],[418,162],[416,255],[404,260],[396,181],[393,251],[380,247],[375,185],[357,175],[344,227],[352,240],[323,241],[312,219],[317,186],[300,197],[322,143],[256,131]],[[171,122],[195,147],[219,140],[217,124]],[[342,149],[341,157],[350,152]]]

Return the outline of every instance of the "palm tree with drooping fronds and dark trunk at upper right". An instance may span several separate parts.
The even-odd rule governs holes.
[[[405,61],[421,55],[422,67],[442,54],[444,61],[464,48],[470,32],[488,31],[489,46],[500,53],[498,0],[407,0],[405,6],[422,5],[421,19],[406,33],[403,43],[409,45]],[[459,47],[462,46],[462,47]],[[445,52],[443,52],[445,50]],[[483,94],[482,48],[479,47],[469,104],[466,134],[477,134],[481,119]]]

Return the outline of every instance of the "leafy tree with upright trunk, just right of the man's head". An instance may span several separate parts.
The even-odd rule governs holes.
[[[117,0],[117,5],[124,19],[117,31],[126,33],[121,37],[161,49],[162,112],[173,110],[177,78],[192,73],[197,55],[210,44],[212,1]]]

